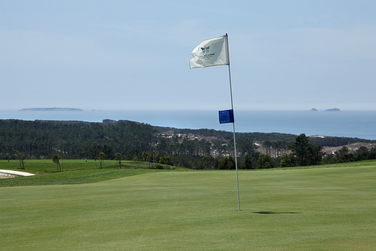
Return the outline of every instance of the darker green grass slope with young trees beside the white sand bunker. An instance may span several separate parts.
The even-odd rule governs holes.
[[[164,168],[165,165],[163,165]],[[149,163],[142,161],[122,161],[122,168],[114,160],[105,160],[103,169],[99,169],[99,161],[94,160],[64,160],[64,172],[57,172],[52,160],[27,160],[25,170],[21,170],[18,160],[0,160],[0,169],[17,170],[35,173],[35,176],[20,176],[11,179],[0,179],[0,187],[36,186],[36,185],[67,185],[95,183],[113,180],[132,175],[167,170],[149,169]],[[183,167],[171,167],[175,170],[186,170]]]

